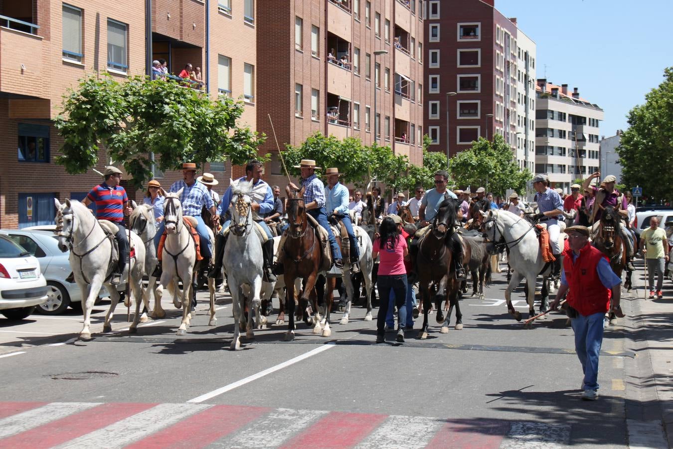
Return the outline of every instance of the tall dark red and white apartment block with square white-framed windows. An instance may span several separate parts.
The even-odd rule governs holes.
[[[532,159],[535,43],[494,0],[425,2],[424,123],[433,151],[453,156],[502,135],[520,166]],[[522,35],[520,42],[519,34]],[[527,117],[527,118],[526,118]]]

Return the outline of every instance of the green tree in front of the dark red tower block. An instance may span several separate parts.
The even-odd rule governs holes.
[[[487,191],[504,195],[508,188],[522,192],[532,178],[528,169],[521,170],[505,139],[497,134],[493,142],[479,137],[472,148],[451,158],[449,172],[460,186],[485,186]]]

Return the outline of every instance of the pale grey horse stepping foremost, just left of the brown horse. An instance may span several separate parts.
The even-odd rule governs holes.
[[[262,289],[262,242],[254,229],[252,220],[252,182],[231,180],[232,200],[229,211],[232,221],[229,225],[229,238],[224,248],[223,266],[227,275],[229,292],[232,293],[234,312],[234,339],[230,349],[240,349],[240,331],[246,329],[246,337],[254,338],[252,332],[252,310],[256,317],[256,327],[260,329],[260,291]],[[244,291],[245,288],[245,291]],[[248,322],[245,319],[245,293],[250,298]]]

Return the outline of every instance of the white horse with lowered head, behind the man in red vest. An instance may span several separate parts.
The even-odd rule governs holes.
[[[544,277],[542,284],[542,305],[540,308],[546,308],[546,295],[548,294],[548,275],[551,273],[552,264],[545,263],[542,259],[542,250],[540,243],[533,230],[534,224],[528,223],[526,219],[520,218],[508,211],[491,209],[483,212],[484,216],[483,230],[491,244],[495,244],[494,249],[507,246],[509,248],[509,265],[513,269],[513,274],[505,289],[505,300],[507,301],[507,310],[517,321],[521,320],[521,313],[514,310],[511,304],[511,291],[515,289],[521,280],[525,277],[527,282],[528,313],[529,318],[535,315],[535,287],[538,276]]]

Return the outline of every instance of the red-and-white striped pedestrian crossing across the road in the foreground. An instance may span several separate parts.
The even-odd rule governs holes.
[[[0,402],[0,448],[558,448],[569,425],[238,405]]]

